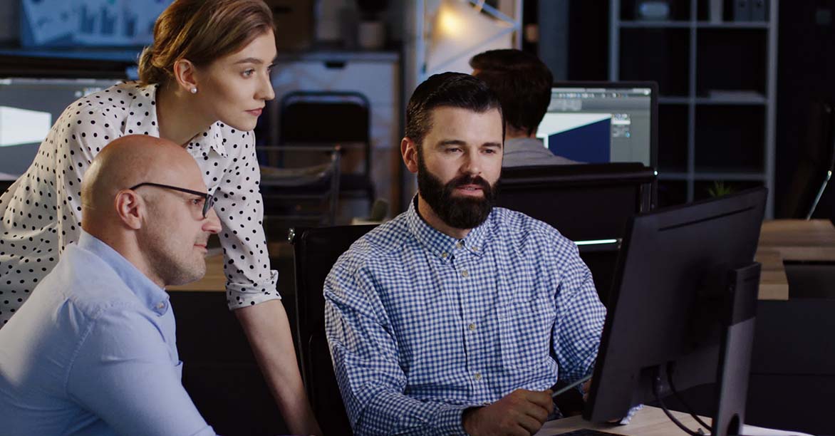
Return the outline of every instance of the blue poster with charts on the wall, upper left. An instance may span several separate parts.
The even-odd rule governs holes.
[[[23,47],[126,47],[153,41],[171,0],[21,0]]]

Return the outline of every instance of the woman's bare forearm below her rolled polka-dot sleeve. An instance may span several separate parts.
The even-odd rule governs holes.
[[[321,434],[307,401],[290,324],[281,300],[235,310],[261,372],[291,433]]]

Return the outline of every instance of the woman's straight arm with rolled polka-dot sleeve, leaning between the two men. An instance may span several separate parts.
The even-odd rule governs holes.
[[[230,166],[215,192],[223,230],[227,303],[249,338],[261,372],[291,433],[321,434],[310,408],[281,296],[278,272],[270,269],[264,235],[261,174],[255,136],[235,132],[226,141]]]

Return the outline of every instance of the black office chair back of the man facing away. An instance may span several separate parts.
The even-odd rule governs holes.
[[[577,242],[606,304],[630,217],[652,208],[655,170],[640,163],[504,168],[497,205],[554,226]]]

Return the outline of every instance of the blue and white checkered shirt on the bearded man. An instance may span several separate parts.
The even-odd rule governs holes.
[[[357,434],[466,434],[466,408],[591,373],[605,319],[574,243],[502,208],[457,240],[412,202],[339,258],[324,292]]]

